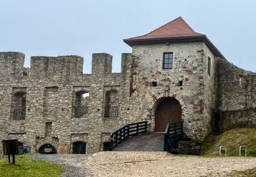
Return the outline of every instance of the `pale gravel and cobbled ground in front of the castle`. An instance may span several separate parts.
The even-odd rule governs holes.
[[[255,157],[173,156],[166,152],[102,151],[89,155],[31,155],[65,167],[63,176],[228,176],[256,167]]]

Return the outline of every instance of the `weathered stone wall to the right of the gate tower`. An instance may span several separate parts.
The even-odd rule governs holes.
[[[217,59],[216,84],[215,131],[256,127],[256,73]]]

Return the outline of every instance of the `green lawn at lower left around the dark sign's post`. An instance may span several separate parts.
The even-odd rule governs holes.
[[[64,168],[57,164],[45,162],[44,160],[34,160],[28,155],[15,156],[15,164],[8,163],[8,159],[0,160],[0,176],[19,176],[19,177],[55,177],[60,176]]]

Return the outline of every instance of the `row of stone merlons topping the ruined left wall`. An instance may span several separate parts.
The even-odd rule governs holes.
[[[122,54],[122,73],[129,68],[131,54]],[[0,67],[6,77],[67,77],[74,78],[83,73],[84,58],[77,55],[58,57],[33,56],[30,69],[24,67],[25,55],[22,52],[0,52]],[[113,57],[107,53],[92,54],[92,75],[108,75],[112,72]],[[5,73],[5,74],[4,74]],[[6,75],[7,73],[7,75]]]

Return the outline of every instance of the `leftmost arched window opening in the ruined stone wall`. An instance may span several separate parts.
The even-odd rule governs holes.
[[[26,116],[26,93],[18,92],[13,95],[13,119],[22,120]]]

